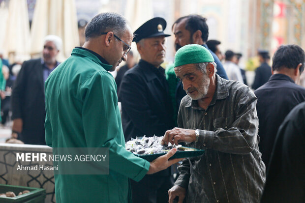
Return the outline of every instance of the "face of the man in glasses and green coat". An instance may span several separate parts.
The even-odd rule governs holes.
[[[114,33],[117,35],[117,33]],[[133,34],[128,28],[126,31],[123,32],[122,36],[117,35],[120,37],[122,41],[124,41],[126,44],[131,46],[131,42],[133,39]],[[116,37],[113,37],[113,41],[111,43],[111,54],[106,59],[110,65],[112,65],[112,68],[110,71],[114,71],[116,67],[123,61],[127,60],[127,55],[124,56],[126,51],[128,50],[128,46],[126,46],[122,41],[117,39]]]

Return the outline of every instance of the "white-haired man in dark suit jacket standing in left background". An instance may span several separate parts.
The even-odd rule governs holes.
[[[56,57],[61,38],[48,35],[44,39],[42,58],[25,61],[12,90],[12,137],[25,144],[45,145],[44,82],[60,64]]]

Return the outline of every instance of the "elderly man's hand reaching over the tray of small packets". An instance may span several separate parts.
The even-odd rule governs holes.
[[[196,134],[195,130],[183,129],[183,128],[174,128],[172,130],[167,130],[161,141],[161,145],[168,145],[170,142],[172,145],[174,143],[178,145],[180,142],[195,142]]]

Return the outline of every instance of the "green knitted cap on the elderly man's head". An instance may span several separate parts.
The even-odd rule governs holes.
[[[190,64],[212,62],[214,58],[208,49],[199,44],[188,44],[180,48],[175,55],[175,67]]]

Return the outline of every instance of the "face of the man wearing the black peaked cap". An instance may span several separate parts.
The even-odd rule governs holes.
[[[165,37],[146,38],[142,42],[137,43],[138,51],[143,60],[158,67],[165,60]]]

